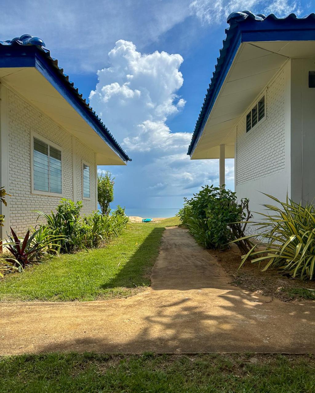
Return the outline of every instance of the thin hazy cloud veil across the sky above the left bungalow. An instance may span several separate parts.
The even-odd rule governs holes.
[[[104,53],[113,42],[120,37],[140,47],[156,42],[189,16],[189,2],[13,0],[1,7],[0,39],[30,33],[44,40],[66,72],[94,72],[104,65]]]

